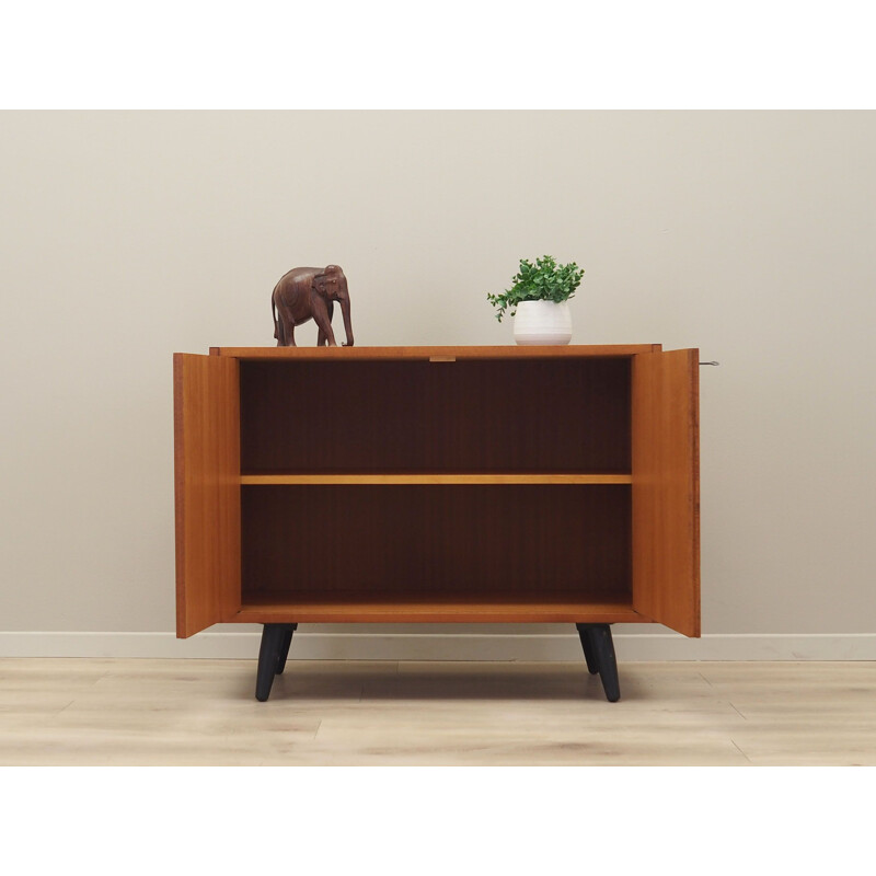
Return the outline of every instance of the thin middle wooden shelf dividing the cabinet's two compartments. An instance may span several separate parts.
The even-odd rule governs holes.
[[[242,474],[254,485],[308,484],[631,484],[630,474]]]

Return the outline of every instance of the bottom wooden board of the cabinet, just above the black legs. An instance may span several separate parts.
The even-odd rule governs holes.
[[[247,600],[240,623],[642,623],[624,602],[322,601],[286,596]]]

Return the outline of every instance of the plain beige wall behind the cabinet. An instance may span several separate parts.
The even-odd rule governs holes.
[[[575,343],[721,361],[704,633],[876,630],[876,114],[0,123],[0,630],[173,630],[171,354],[272,344],[285,270],[343,265],[359,345],[502,344],[485,293],[543,253]]]

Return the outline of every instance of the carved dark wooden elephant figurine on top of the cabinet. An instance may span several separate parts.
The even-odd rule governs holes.
[[[270,311],[274,315],[274,337],[278,347],[293,347],[295,326],[310,319],[316,323],[319,334],[316,346],[336,347],[332,331],[334,302],[341,302],[344,315],[344,331],[347,333],[345,347],[353,346],[353,327],[349,321],[349,291],[347,278],[337,265],[326,267],[293,267],[280,277],[270,297]],[[279,320],[277,316],[279,315]]]

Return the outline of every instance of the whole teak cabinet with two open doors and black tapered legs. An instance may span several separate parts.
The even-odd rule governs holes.
[[[174,354],[177,636],[264,624],[575,623],[700,635],[698,350]]]

